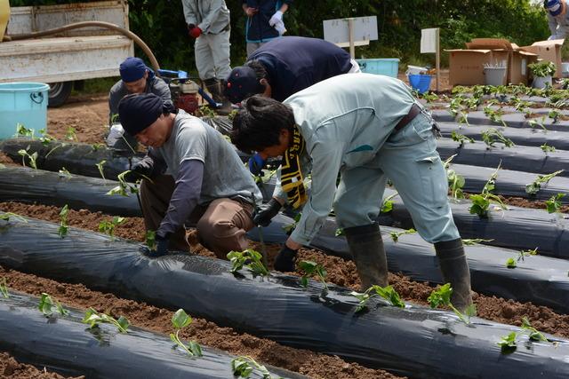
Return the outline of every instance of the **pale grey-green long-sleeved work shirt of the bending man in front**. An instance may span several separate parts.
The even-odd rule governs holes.
[[[305,139],[304,178],[312,171],[310,197],[293,241],[312,240],[333,207],[338,172],[371,162],[413,103],[405,83],[373,74],[334,76],[284,100]],[[278,184],[274,196],[286,199]]]

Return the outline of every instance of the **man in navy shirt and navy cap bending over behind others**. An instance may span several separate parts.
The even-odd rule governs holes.
[[[283,101],[329,77],[359,72],[359,65],[349,53],[333,43],[285,36],[264,44],[244,66],[234,68],[225,94],[234,104],[255,94]],[[253,174],[258,174],[263,165],[258,154],[249,162]]]

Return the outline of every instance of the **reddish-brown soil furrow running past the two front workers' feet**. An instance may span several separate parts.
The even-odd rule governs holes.
[[[52,222],[59,222],[60,220],[60,209],[57,207],[0,202],[0,210]],[[100,212],[69,210],[68,224],[96,231],[100,221],[108,218],[110,217]],[[127,223],[117,226],[115,234],[118,237],[144,241],[143,220],[140,217],[129,217]],[[252,248],[260,250],[260,244],[252,242]],[[280,247],[276,245],[267,246],[268,266],[270,269],[273,268],[279,249]],[[194,254],[213,256],[212,252],[204,249],[197,243],[192,243],[191,250]],[[329,282],[355,290],[360,289],[361,283],[357,277],[356,265],[351,261],[340,257],[330,257],[314,249],[301,249],[298,259],[312,260],[323,265],[328,272],[327,281]],[[293,272],[293,274],[301,275],[302,272],[299,270]],[[427,297],[429,297],[433,289],[429,283],[416,282],[397,273],[389,273],[389,283],[397,289],[397,292],[405,301],[415,304],[427,305]],[[556,313],[548,307],[532,303],[518,303],[501,297],[484,296],[477,293],[474,294],[474,301],[477,304],[477,315],[483,319],[521,326],[522,317],[527,317],[534,328],[552,335],[569,337],[569,315]]]

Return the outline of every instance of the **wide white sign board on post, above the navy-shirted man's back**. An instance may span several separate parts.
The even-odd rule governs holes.
[[[352,20],[354,46],[377,40],[377,17],[324,20],[324,39],[340,47],[349,46],[349,20]]]

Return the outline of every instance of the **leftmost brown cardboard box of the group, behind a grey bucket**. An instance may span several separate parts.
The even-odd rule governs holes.
[[[485,84],[484,65],[503,64],[508,66],[509,51],[506,50],[445,50],[449,52],[449,84]],[[504,76],[504,84],[508,70]]]

